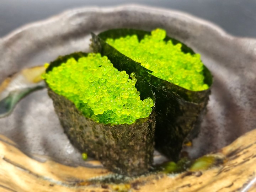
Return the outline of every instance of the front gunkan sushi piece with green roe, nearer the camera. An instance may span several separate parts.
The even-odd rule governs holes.
[[[154,94],[134,73],[106,56],[59,57],[43,75],[55,112],[71,142],[113,172],[134,176],[153,163]]]

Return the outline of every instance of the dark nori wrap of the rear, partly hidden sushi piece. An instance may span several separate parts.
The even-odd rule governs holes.
[[[106,55],[118,70],[134,72],[138,81],[151,86],[156,94],[156,131],[155,147],[170,159],[177,161],[183,142],[191,140],[199,133],[200,120],[205,113],[209,100],[210,89],[204,91],[190,91],[169,81],[162,80],[150,74],[151,71],[140,63],[126,57],[112,46],[108,45],[107,38],[120,38],[137,34],[139,40],[150,32],[133,29],[114,29],[98,34],[92,33],[92,49]],[[174,44],[181,43],[176,39],[166,37]],[[182,51],[194,54],[193,50],[182,44]],[[204,67],[204,82],[212,85],[212,75]]]

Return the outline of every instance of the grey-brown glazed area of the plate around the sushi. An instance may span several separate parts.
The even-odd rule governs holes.
[[[217,26],[181,12],[128,5],[66,11],[22,27],[0,39],[0,82],[23,68],[42,65],[58,55],[89,52],[90,32],[111,28],[164,28],[202,55],[214,82],[208,112],[191,158],[230,144],[256,125],[256,39],[237,38]],[[64,164],[83,164],[80,153],[63,133],[47,90],[24,98],[0,119],[0,134],[24,152],[47,155]]]

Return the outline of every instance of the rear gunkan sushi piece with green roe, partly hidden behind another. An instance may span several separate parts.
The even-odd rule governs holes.
[[[92,48],[118,70],[132,66],[127,72],[151,86],[156,94],[156,148],[177,161],[183,143],[199,132],[210,94],[212,76],[200,55],[161,29],[92,34]]]

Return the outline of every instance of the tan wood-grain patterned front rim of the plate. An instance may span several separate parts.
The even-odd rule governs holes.
[[[233,192],[242,191],[256,177],[256,130],[246,133],[219,151],[224,165],[205,171],[181,174],[151,174],[123,184],[93,182],[110,176],[102,168],[70,167],[47,160],[39,162],[17,149],[15,143],[0,137],[1,192]],[[91,161],[91,164],[98,164]],[[248,186],[249,187],[249,186]],[[247,191],[256,191],[251,185]]]

